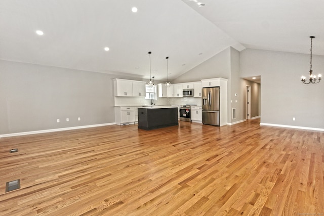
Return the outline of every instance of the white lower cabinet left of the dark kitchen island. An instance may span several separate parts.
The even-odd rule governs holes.
[[[117,125],[135,123],[135,107],[115,107],[115,122]]]

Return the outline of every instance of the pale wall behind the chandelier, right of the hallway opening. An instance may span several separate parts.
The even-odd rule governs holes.
[[[240,53],[241,77],[261,75],[261,123],[324,128],[324,81],[300,81],[309,75],[309,58],[253,49]],[[313,73],[323,72],[324,56],[313,55],[312,65]]]

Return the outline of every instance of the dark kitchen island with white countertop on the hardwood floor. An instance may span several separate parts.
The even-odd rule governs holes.
[[[145,106],[138,108],[138,128],[151,130],[178,125],[178,107]]]

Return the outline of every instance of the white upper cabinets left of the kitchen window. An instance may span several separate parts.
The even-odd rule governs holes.
[[[113,79],[115,97],[145,97],[145,82]]]

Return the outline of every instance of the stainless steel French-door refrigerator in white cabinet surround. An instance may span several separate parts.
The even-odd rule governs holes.
[[[203,124],[220,125],[219,87],[208,87],[201,90]]]

